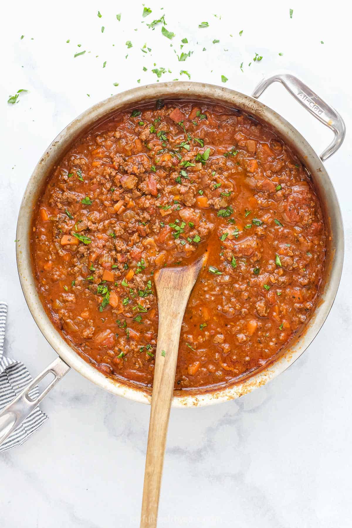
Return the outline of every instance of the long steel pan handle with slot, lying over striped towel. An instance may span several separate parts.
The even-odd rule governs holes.
[[[69,372],[70,366],[61,357],[57,357],[46,369],[43,370],[18,396],[0,412],[0,445],[11,435],[11,433],[23,422],[46,394],[53,388],[63,376]],[[54,379],[46,386],[37,398],[31,398],[28,394],[49,373]]]

